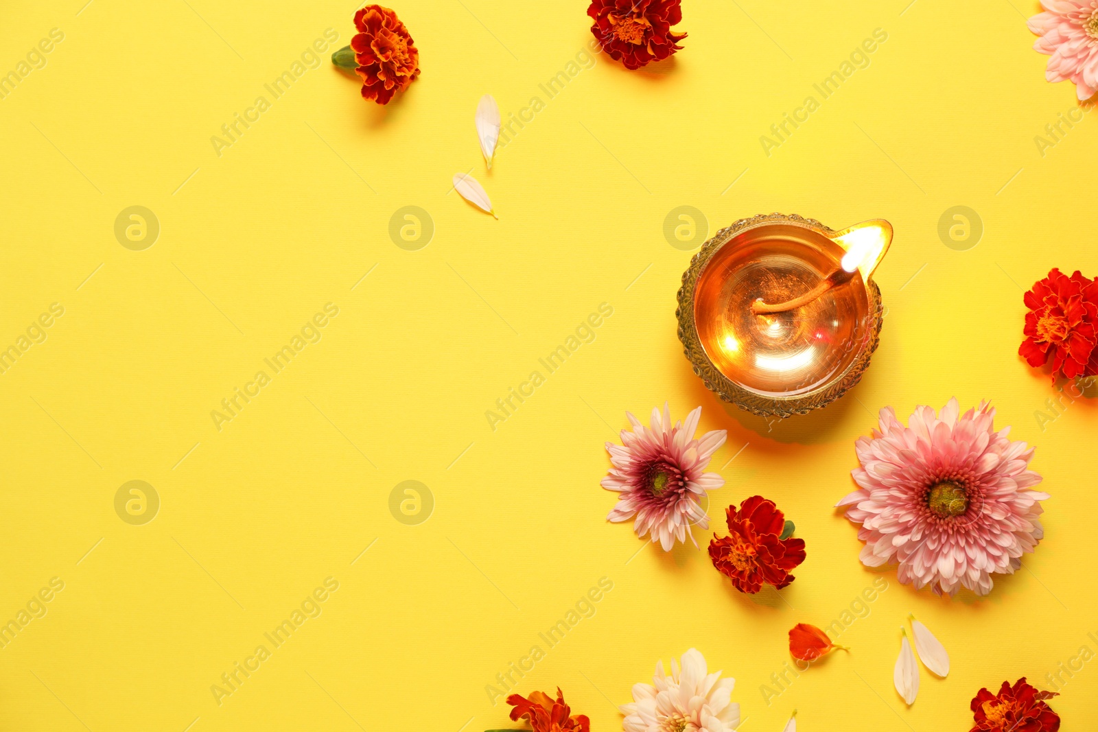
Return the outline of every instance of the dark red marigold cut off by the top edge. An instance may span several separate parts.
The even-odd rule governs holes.
[[[592,0],[587,14],[595,21],[591,32],[603,50],[627,69],[662,61],[681,49],[685,33],[671,26],[683,19],[682,0]]]

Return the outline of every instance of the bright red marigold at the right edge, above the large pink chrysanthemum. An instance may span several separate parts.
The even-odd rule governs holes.
[[[1031,367],[1052,357],[1052,380],[1098,374],[1098,280],[1058,269],[1026,293],[1026,340],[1018,352]]]

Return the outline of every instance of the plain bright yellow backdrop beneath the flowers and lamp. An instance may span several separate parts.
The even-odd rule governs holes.
[[[0,24],[3,72],[65,34],[0,101],[0,344],[65,307],[0,375],[0,619],[65,582],[0,650],[0,729],[479,732],[511,725],[485,686],[539,644],[518,690],[559,685],[600,732],[620,729],[614,705],[658,658],[691,646],[737,678],[748,732],[793,708],[804,730],[965,730],[981,686],[1047,686],[1098,651],[1098,416],[1064,399],[1039,424],[1055,392],[1017,357],[1022,289],[1054,266],[1098,274],[1095,121],[1043,156],[1034,143],[1076,106],[1031,49],[1035,3],[687,1],[672,61],[598,57],[549,100],[538,85],[591,40],[583,2],[407,0],[423,75],[380,109],[332,48],[281,99],[264,89],[326,29],[349,43],[350,3],[85,2],[9,3]],[[888,40],[869,67],[768,157],[760,136],[874,29]],[[546,102],[491,172],[472,120],[484,93],[505,116]],[[219,157],[211,136],[259,95],[271,109]],[[498,222],[450,190],[466,171]],[[144,251],[113,234],[131,205],[160,224]],[[415,251],[389,236],[406,205],[435,226]],[[681,205],[710,235],[771,211],[894,224],[881,348],[849,396],[768,426],[705,391],[675,337],[692,252],[663,225]],[[963,251],[938,236],[955,205],[985,227]],[[219,431],[211,410],[329,302],[323,339]],[[596,339],[490,429],[485,410],[603,302]],[[840,639],[852,652],[768,706],[788,628],[839,619],[877,576],[831,508],[854,439],[882,406],[906,419],[954,395],[993,399],[997,424],[1038,446],[1046,539],[984,599],[884,573]],[[604,520],[604,441],[664,401],[728,430],[714,528],[755,493],[796,522],[808,559],[781,596],[740,595],[704,551],[665,555]],[[160,497],[144,526],[114,510],[132,480]],[[406,480],[434,496],[417,526],[389,509]],[[329,576],[322,615],[219,706],[211,685]],[[614,587],[594,617],[548,649],[538,633],[600,577]],[[922,669],[906,709],[892,668],[909,612],[953,672]],[[1091,662],[1053,702],[1065,729],[1098,724],[1096,692]]]

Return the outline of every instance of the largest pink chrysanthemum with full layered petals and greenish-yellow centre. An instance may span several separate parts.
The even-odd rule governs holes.
[[[1039,502],[1049,494],[1032,489],[1033,449],[1008,440],[1009,427],[994,431],[995,409],[959,413],[956,398],[940,415],[916,407],[904,427],[882,409],[879,431],[854,443],[861,487],[837,505],[862,525],[866,566],[898,563],[901,583],[939,595],[987,595],[991,575],[1012,574],[1044,536]]]

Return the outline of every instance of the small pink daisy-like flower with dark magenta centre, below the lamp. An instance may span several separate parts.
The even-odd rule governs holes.
[[[687,415],[686,424],[672,425],[666,404],[663,414],[659,407],[652,409],[651,427],[645,427],[628,412],[626,416],[632,431],[621,430],[623,444],[606,443],[614,468],[602,486],[621,494],[606,518],[625,521],[636,516],[637,536],[651,533],[652,541],[659,541],[666,552],[675,541],[685,543],[687,536],[696,547],[690,527],[696,523],[709,528],[702,497],[725,484],[725,478],[704,471],[713,453],[725,443],[727,432],[718,429],[694,439],[702,407]]]

